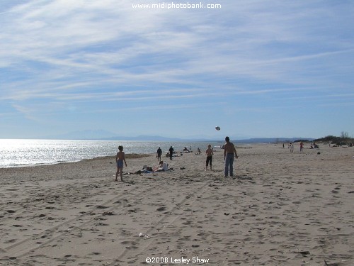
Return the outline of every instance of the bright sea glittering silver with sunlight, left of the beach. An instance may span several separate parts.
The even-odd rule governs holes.
[[[0,168],[23,167],[33,165],[52,165],[63,162],[78,162],[95,157],[114,156],[118,145],[122,145],[126,154],[156,153],[161,147],[167,153],[172,146],[182,151],[188,148],[195,152],[198,148],[204,152],[207,145],[220,148],[223,143],[210,142],[159,142],[127,140],[28,140],[0,139]]]

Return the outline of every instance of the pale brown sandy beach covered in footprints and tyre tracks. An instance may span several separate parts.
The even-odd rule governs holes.
[[[0,169],[0,265],[354,265],[354,148],[201,148]]]

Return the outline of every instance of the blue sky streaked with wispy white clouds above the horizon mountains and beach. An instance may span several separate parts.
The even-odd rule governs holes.
[[[0,138],[353,136],[353,13],[350,0],[1,0]]]

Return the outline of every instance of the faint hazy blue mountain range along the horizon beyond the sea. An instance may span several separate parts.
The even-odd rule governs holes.
[[[220,141],[217,138],[168,138],[160,135],[138,135],[132,136],[118,136],[116,133],[109,131],[96,130],[96,131],[73,131],[60,135],[50,135],[42,137],[42,139],[55,139],[55,140],[144,140],[144,141]],[[241,140],[232,140],[238,143],[282,143],[293,142],[295,140],[309,140],[314,138],[245,138]]]

